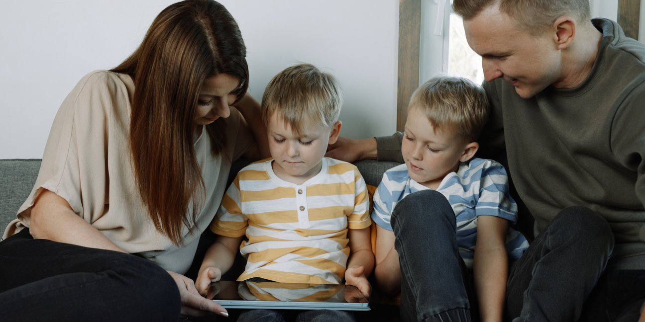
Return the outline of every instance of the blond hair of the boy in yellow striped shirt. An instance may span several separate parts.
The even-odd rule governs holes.
[[[262,97],[262,119],[272,115],[284,120],[301,135],[306,120],[331,128],[341,114],[342,97],[338,81],[312,64],[298,64],[281,71],[266,86]]]

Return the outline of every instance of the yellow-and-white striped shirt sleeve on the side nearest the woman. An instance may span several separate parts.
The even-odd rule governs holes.
[[[242,213],[242,198],[240,193],[239,175],[228,187],[219,210],[210,223],[210,230],[215,234],[226,237],[241,237],[246,233],[248,218]]]

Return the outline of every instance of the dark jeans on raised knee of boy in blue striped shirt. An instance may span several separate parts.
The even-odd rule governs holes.
[[[434,190],[408,194],[395,207],[392,229],[404,321],[471,321],[477,302],[459,255],[456,227],[448,200]]]

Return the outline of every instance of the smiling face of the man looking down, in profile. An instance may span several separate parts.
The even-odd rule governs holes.
[[[522,30],[508,15],[490,6],[473,19],[464,20],[466,40],[482,57],[486,81],[502,77],[528,99],[561,79],[561,51],[555,33],[538,35]]]

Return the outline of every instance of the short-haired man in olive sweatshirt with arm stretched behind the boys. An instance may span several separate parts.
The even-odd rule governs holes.
[[[588,0],[454,0],[482,56],[483,156],[537,236],[508,278],[513,321],[636,321],[645,299],[645,45]],[[378,142],[378,146],[377,146]],[[400,134],[328,155],[401,160]],[[640,317],[645,321],[645,314]]]

